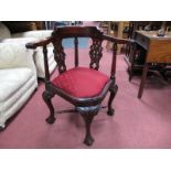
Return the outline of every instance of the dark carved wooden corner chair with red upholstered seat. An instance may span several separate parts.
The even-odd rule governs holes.
[[[62,45],[62,40],[67,38],[74,38],[75,45],[75,67],[71,70],[66,70],[65,53]],[[90,38],[93,40],[89,50],[90,64],[88,67],[78,66],[78,38]],[[101,42],[104,40],[114,43],[110,76],[98,72],[99,60],[103,57]],[[111,107],[111,103],[118,89],[115,82],[117,44],[126,44],[128,42],[130,41],[105,35],[96,26],[65,26],[54,29],[52,36],[43,41],[28,43],[28,49],[43,47],[45,90],[42,96],[50,109],[50,116],[46,118],[46,121],[49,124],[55,121],[54,107],[51,99],[54,95],[63,97],[75,106],[75,110],[78,111],[85,120],[86,135],[84,143],[90,146],[94,141],[90,135],[90,125],[94,116],[98,114],[100,104],[108,92],[110,92],[110,96],[107,106],[107,115],[114,115],[115,110]],[[46,46],[50,43],[54,46],[54,58],[58,68],[58,76],[53,81],[50,79],[47,65]]]

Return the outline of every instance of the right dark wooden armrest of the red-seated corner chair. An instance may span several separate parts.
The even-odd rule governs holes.
[[[103,39],[106,40],[106,41],[110,41],[110,42],[117,43],[117,44],[135,43],[135,41],[131,40],[131,39],[114,38],[114,36],[106,35],[106,34],[103,35]]]

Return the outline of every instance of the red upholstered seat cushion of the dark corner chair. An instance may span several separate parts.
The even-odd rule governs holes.
[[[94,97],[101,93],[109,77],[87,67],[75,67],[53,79],[53,84],[74,97]]]

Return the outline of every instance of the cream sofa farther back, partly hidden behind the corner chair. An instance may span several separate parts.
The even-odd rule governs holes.
[[[40,39],[45,39],[50,36],[51,33],[52,33],[51,30],[50,31],[40,30],[40,31],[28,31],[28,32],[11,34],[9,29],[3,23],[0,22],[0,42],[12,41],[12,42],[18,42],[18,43],[20,42],[28,43],[30,42],[30,39],[28,38],[34,38],[36,40],[40,40]],[[52,46],[49,46],[47,51],[49,51],[47,56],[49,56],[50,73],[52,73],[54,68],[56,67],[56,63],[53,57]],[[33,58],[34,58],[34,63],[36,66],[38,77],[44,78],[45,71],[44,71],[44,60],[43,60],[42,49],[34,50]]]

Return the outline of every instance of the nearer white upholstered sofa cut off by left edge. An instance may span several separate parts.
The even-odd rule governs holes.
[[[38,87],[33,51],[25,44],[0,43],[0,128],[29,99]]]

